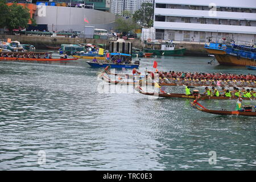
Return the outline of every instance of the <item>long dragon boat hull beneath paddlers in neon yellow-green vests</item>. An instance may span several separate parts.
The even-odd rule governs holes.
[[[192,98],[196,99],[197,96],[187,96],[183,93],[155,93],[155,92],[144,92],[140,86],[135,88],[139,93],[147,95],[147,96],[156,96],[156,97],[171,97],[171,98]],[[200,94],[200,100],[237,100],[237,97],[209,97],[206,94]],[[243,100],[255,100],[255,98],[243,98]]]

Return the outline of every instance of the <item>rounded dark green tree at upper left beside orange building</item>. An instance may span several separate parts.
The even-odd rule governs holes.
[[[30,20],[30,11],[27,7],[22,7],[16,3],[9,6],[9,14],[6,22],[6,27],[9,31],[13,31],[16,28],[26,28],[28,20]]]

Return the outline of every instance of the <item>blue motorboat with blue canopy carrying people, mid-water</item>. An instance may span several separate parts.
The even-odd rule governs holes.
[[[120,59],[122,63],[115,63],[116,60]],[[93,62],[86,61],[93,68],[106,68],[110,66],[111,68],[138,68],[139,61],[131,61],[131,55],[126,53],[110,53],[110,60],[104,62]]]

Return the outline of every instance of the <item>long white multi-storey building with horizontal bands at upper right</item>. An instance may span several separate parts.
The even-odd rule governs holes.
[[[255,0],[155,0],[155,39],[256,42]]]

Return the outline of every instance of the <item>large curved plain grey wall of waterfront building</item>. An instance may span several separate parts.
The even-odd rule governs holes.
[[[84,31],[84,26],[112,30],[115,25],[115,15],[104,11],[63,6],[38,6],[37,11],[36,23],[48,24],[49,31]]]

